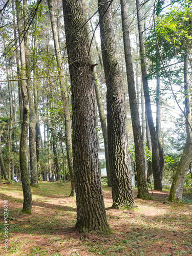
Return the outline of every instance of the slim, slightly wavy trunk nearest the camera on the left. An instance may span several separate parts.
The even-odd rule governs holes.
[[[16,0],[16,11],[17,11],[17,25],[18,33],[22,31],[22,20],[20,18],[20,4]],[[20,44],[20,60],[21,60],[21,78],[26,78],[25,69],[26,69],[26,59],[25,59],[25,46],[24,40],[19,37]],[[22,123],[22,133],[20,135],[20,146],[19,146],[19,162],[20,162],[20,174],[22,179],[22,187],[24,193],[24,204],[23,212],[31,214],[32,207],[32,194],[31,187],[28,177],[28,166],[27,166],[27,136],[28,136],[28,127],[29,127],[29,100],[27,94],[27,82],[26,80],[21,81],[22,87],[22,98],[23,98],[23,123]]]

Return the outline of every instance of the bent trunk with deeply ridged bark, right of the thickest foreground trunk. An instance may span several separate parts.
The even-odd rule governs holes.
[[[124,94],[116,57],[111,3],[98,0],[102,60],[106,80],[108,150],[113,208],[134,208],[130,167],[127,163]]]

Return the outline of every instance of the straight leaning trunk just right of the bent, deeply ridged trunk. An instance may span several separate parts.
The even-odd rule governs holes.
[[[139,111],[137,105],[137,95],[135,91],[134,71],[131,54],[129,22],[126,7],[126,0],[121,0],[121,16],[122,16],[122,30],[123,30],[123,44],[126,63],[126,76],[128,84],[128,92],[130,99],[130,110],[132,118],[133,135],[135,142],[135,161],[137,171],[137,187],[138,198],[149,199],[148,186],[145,175],[145,157],[143,150],[143,140],[141,134],[141,126],[139,120]]]

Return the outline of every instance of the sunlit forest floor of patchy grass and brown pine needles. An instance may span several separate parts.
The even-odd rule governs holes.
[[[165,203],[168,191],[153,190],[154,200],[135,198],[137,210],[114,210],[111,188],[102,185],[112,234],[79,233],[70,183],[40,182],[32,188],[32,214],[22,214],[22,185],[0,184],[0,255],[192,255],[192,190],[184,203]],[[152,193],[150,192],[152,195]],[[134,196],[137,190],[134,188]],[[8,252],[5,252],[4,200],[8,200]]]

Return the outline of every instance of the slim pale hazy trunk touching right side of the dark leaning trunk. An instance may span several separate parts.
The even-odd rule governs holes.
[[[164,156],[163,144],[161,140],[161,80],[158,73],[157,73],[156,105],[157,105],[156,132],[157,132],[158,145],[159,145],[159,164],[160,164],[161,176],[163,177],[165,156]]]

